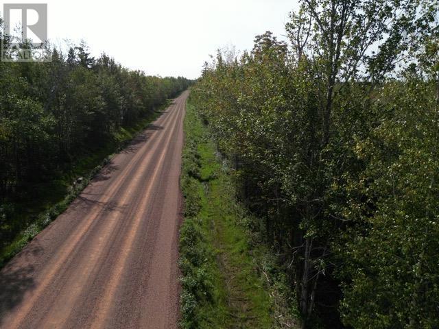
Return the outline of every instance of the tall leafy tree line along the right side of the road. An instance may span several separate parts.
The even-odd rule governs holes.
[[[301,0],[193,87],[302,328],[439,328],[438,13]]]

